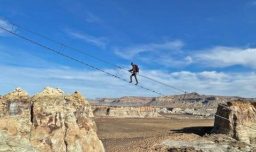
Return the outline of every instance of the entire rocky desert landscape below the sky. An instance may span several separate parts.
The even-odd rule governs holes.
[[[0,151],[255,151],[255,107],[198,93],[87,100],[18,88],[0,96]]]

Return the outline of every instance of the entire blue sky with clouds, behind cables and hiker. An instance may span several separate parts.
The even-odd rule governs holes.
[[[187,92],[256,98],[256,1],[14,1],[0,17]],[[0,21],[0,26],[12,26]],[[59,50],[46,39],[21,35]],[[76,90],[87,98],[157,96],[0,30],[0,94],[21,87]],[[72,50],[66,54],[115,74],[116,68]],[[129,79],[129,73],[121,77]],[[169,87],[138,77],[163,94]]]

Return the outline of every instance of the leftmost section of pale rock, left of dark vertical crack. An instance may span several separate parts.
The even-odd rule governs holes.
[[[0,99],[0,151],[40,151],[29,143],[32,100],[20,88]]]

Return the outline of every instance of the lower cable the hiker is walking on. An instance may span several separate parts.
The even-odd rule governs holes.
[[[34,44],[36,44],[36,45],[39,45],[39,46],[43,47],[44,49],[47,49],[47,50],[49,50],[49,51],[52,51],[52,52],[57,53],[57,54],[59,54],[59,55],[62,55],[63,57],[69,58],[69,59],[74,60],[74,61],[76,61],[76,62],[79,62],[79,63],[81,63],[81,64],[83,64],[83,65],[85,65],[85,66],[88,66],[88,67],[94,68],[94,69],[96,69],[96,70],[102,71],[102,72],[105,73],[105,74],[108,74],[108,75],[110,75],[110,76],[116,77],[116,78],[118,78],[118,79],[121,79],[122,81],[125,81],[125,82],[129,83],[129,81],[127,81],[126,79],[123,79],[123,78],[118,77],[118,76],[116,76],[116,75],[110,74],[110,73],[108,73],[107,71],[104,71],[104,70],[102,70],[102,69],[99,69],[99,68],[97,68],[97,67],[94,67],[94,66],[92,66],[92,65],[89,65],[88,63],[83,62],[83,61],[80,61],[80,60],[78,60],[78,59],[76,59],[76,58],[70,57],[69,55],[66,55],[66,54],[64,54],[64,53],[62,53],[62,52],[58,52],[58,51],[56,51],[56,50],[54,50],[54,49],[51,49],[50,47],[48,47],[48,46],[46,46],[46,45],[43,45],[43,44],[41,44],[41,43],[39,43],[39,42],[36,42],[36,41],[34,41],[34,40],[32,40],[32,39],[26,38],[25,36],[22,36],[22,35],[20,35],[20,34],[13,33],[12,31],[7,30],[7,29],[5,29],[5,28],[3,28],[3,27],[0,27],[0,29],[4,30],[4,31],[6,31],[6,32],[8,32],[8,33],[10,33],[10,34],[16,35],[16,36],[18,36],[18,37],[20,37],[20,38],[22,38],[22,39],[25,39],[25,40],[28,41],[28,42],[34,43]],[[132,83],[132,84],[133,84],[133,83]],[[135,85],[135,84],[134,84],[134,85]],[[140,86],[140,85],[135,85],[135,86],[138,86],[138,87],[141,87],[142,89],[145,89],[145,90],[148,90],[148,91],[150,91],[150,92],[159,94],[159,95],[161,95],[161,96],[163,96],[163,97],[167,97],[167,95],[164,95],[164,94],[162,94],[162,93],[156,92],[156,91],[154,91],[154,90],[147,89],[147,88],[144,87],[144,86]]]

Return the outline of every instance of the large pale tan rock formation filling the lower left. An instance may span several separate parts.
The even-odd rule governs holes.
[[[88,101],[46,87],[0,99],[0,151],[104,151]]]

